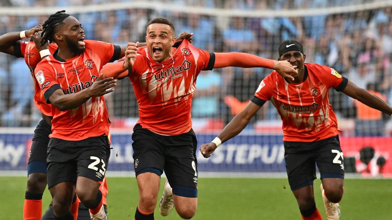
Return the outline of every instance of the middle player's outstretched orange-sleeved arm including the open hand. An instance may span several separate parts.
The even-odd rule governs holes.
[[[214,68],[221,67],[263,67],[276,70],[279,75],[294,80],[290,74],[297,74],[292,65],[288,61],[276,61],[261,58],[247,53],[230,52],[230,53],[214,53]]]

